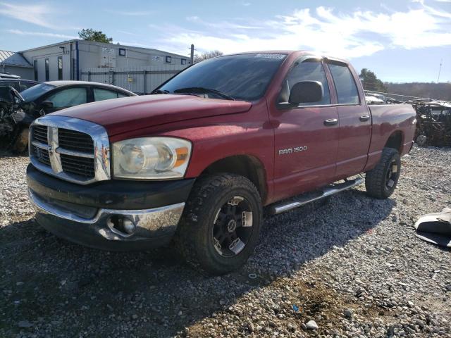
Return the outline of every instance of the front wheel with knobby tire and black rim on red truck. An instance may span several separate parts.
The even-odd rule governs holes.
[[[201,177],[175,234],[184,258],[208,273],[237,270],[254,252],[262,222],[257,188],[240,175]]]

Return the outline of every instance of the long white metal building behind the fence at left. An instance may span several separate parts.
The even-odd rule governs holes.
[[[158,49],[104,44],[73,39],[58,44],[20,51],[30,63],[33,73],[30,80],[82,80],[82,71],[92,68],[134,68],[158,66],[173,69],[175,65],[190,65],[190,57],[159,51]]]

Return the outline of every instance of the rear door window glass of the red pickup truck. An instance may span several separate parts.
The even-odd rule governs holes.
[[[359,92],[347,65],[329,64],[339,104],[359,104]]]

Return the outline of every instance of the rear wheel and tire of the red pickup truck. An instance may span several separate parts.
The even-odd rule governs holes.
[[[387,199],[395,191],[400,173],[400,154],[396,149],[384,148],[376,167],[366,173],[366,193],[376,199]]]

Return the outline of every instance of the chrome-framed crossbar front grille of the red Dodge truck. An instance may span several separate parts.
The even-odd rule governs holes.
[[[44,173],[80,184],[109,180],[109,158],[109,139],[101,125],[44,116],[31,126],[30,160]]]

